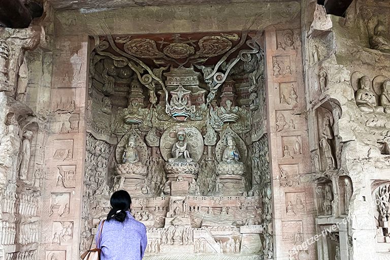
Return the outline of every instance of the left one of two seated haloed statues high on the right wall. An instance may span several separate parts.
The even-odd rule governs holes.
[[[370,82],[370,78],[367,76],[360,78],[360,89],[356,91],[355,100],[360,110],[376,112],[381,107],[377,106],[375,93],[370,90]]]

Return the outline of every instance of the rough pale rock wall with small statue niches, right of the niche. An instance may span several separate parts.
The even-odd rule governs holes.
[[[388,257],[389,5],[302,6],[319,259]]]

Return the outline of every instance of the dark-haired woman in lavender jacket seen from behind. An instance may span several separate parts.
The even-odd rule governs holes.
[[[103,223],[100,243],[99,234],[96,236],[96,246],[102,249],[101,260],[141,260],[147,244],[146,228],[130,213],[130,195],[118,190],[112,194],[110,204],[112,209]]]

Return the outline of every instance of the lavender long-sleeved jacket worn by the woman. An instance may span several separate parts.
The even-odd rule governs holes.
[[[98,245],[96,241],[98,248],[102,249],[101,260],[141,260],[144,256],[148,242],[145,225],[129,211],[126,213],[123,223],[115,219],[104,222],[101,243]]]

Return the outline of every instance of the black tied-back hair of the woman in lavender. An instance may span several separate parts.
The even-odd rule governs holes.
[[[112,209],[107,215],[107,221],[115,219],[116,221],[123,222],[126,219],[126,211],[130,211],[130,205],[132,204],[132,198],[125,190],[115,191],[110,199]]]

